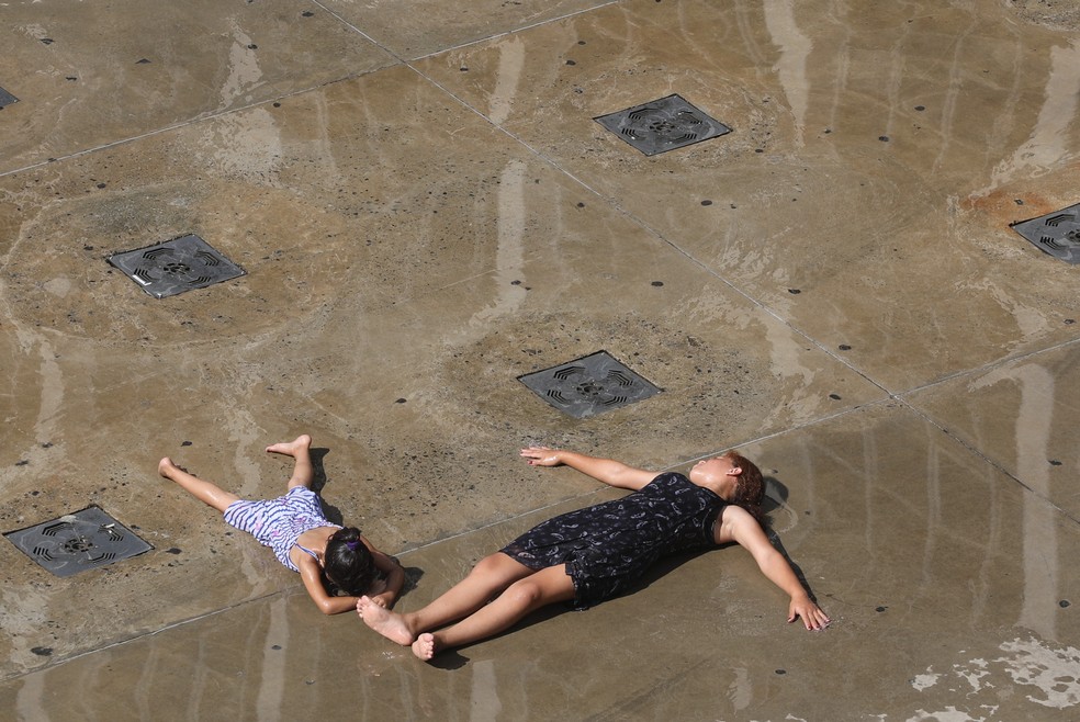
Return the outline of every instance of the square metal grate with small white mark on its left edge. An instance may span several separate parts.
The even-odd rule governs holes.
[[[155,298],[205,289],[245,273],[244,269],[195,235],[114,253],[109,257],[109,262]]]

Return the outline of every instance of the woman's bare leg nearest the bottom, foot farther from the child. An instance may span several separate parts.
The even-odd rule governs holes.
[[[566,567],[549,566],[511,584],[492,603],[465,617],[453,627],[424,633],[413,642],[413,654],[430,659],[448,647],[487,639],[517,623],[526,614],[556,601],[574,598],[574,582]]]

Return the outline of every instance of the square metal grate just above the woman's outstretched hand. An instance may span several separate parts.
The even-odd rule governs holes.
[[[560,411],[578,419],[629,406],[662,391],[607,351],[527,373],[518,381]]]

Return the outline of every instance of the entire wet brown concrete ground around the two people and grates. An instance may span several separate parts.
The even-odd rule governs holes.
[[[1076,268],[1009,224],[1080,200],[1080,7],[161,12],[0,8],[0,531],[95,504],[154,546],[61,579],[0,544],[4,718],[1076,715]],[[594,120],[673,92],[733,132]],[[108,262],[189,233],[246,275]],[[662,392],[519,381],[599,350]],[[617,495],[522,445],[739,447],[834,623],[729,549],[423,665],[156,474],[277,495],[301,432],[405,610]]]

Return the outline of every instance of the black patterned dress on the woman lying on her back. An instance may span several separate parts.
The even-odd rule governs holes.
[[[728,503],[682,474],[660,474],[612,501],[569,511],[500,551],[532,569],[566,565],[575,609],[627,591],[656,560],[716,546],[712,526]]]

